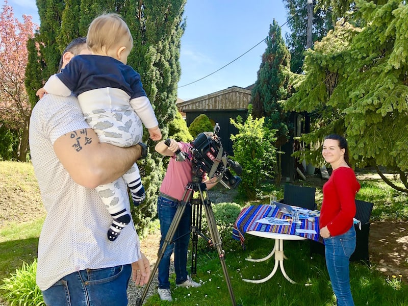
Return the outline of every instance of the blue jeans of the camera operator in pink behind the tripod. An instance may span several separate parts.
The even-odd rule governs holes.
[[[163,246],[167,232],[170,228],[171,221],[177,210],[178,202],[159,196],[157,201],[157,212],[160,220],[160,232],[162,238],[160,240],[160,248]],[[168,244],[163,254],[163,258],[159,264],[159,288],[170,289],[169,269],[170,256],[174,249],[174,271],[175,283],[182,284],[187,281],[187,251],[188,243],[190,241],[190,220],[191,206],[186,205],[183,216],[180,219],[179,226],[174,233],[174,241]]]

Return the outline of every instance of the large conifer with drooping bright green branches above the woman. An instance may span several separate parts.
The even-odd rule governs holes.
[[[359,1],[355,19],[340,20],[334,31],[305,58],[306,78],[286,105],[288,110],[317,112],[319,124],[302,136],[319,144],[327,134],[344,134],[353,164],[372,165],[393,188],[408,192],[408,5]],[[350,19],[349,19],[350,20]],[[316,164],[321,147],[307,151]],[[397,171],[404,187],[380,171]]]

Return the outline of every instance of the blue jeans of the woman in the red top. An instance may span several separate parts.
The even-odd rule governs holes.
[[[353,306],[350,288],[349,260],[355,249],[354,225],[346,233],[324,239],[325,256],[331,288],[338,306]]]

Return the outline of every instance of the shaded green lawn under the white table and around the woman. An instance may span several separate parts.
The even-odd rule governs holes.
[[[242,278],[261,278],[267,276],[273,266],[273,261],[252,263],[245,258],[260,258],[266,256],[273,247],[268,239],[251,237],[246,239],[246,250],[237,247],[226,252],[228,275],[237,304],[242,306],[261,305],[321,305],[336,304],[329,277],[321,256],[310,257],[308,241],[286,241],[285,269],[297,284],[290,284],[277,272],[268,282],[250,284]],[[174,274],[172,296],[177,305],[230,305],[225,278],[216,252],[201,253],[197,261],[197,276],[203,286],[200,288],[175,288]],[[267,268],[265,268],[267,267]],[[189,267],[188,267],[189,268]],[[350,264],[351,288],[356,305],[408,305],[407,286],[401,285],[398,290],[389,284],[384,275],[373,267]],[[162,302],[158,295],[150,297],[145,305],[170,305]]]

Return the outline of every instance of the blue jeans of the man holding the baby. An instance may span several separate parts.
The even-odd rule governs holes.
[[[131,273],[131,265],[73,272],[42,291],[42,296],[51,306],[126,306]]]

